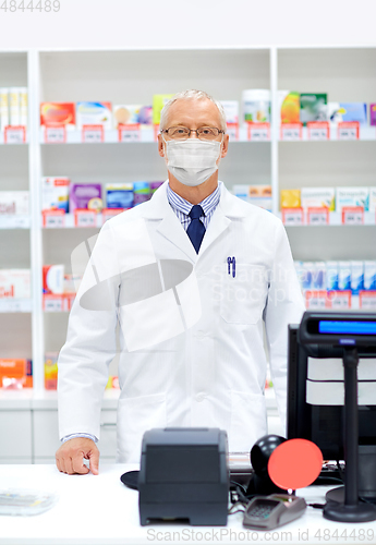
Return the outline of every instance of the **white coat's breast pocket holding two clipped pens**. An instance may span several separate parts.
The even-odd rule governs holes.
[[[228,324],[256,324],[266,302],[266,268],[247,263],[232,267],[222,268],[220,315]]]

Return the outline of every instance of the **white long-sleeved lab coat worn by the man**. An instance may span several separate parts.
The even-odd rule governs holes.
[[[299,323],[304,312],[278,218],[221,184],[197,255],[167,201],[166,186],[101,229],[59,356],[60,436],[99,438],[119,319],[120,462],[140,461],[143,434],[153,427],[219,427],[228,432],[230,451],[250,451],[267,433],[263,324],[284,419],[288,324]],[[228,257],[235,257],[234,275]],[[166,263],[172,264],[168,274],[160,266]],[[159,271],[156,282],[153,275],[143,276],[153,264]],[[124,271],[131,276],[122,277]],[[136,287],[138,278],[147,280]],[[99,283],[107,286],[106,295],[96,292],[90,306],[85,293]],[[122,294],[131,299],[121,300]]]

